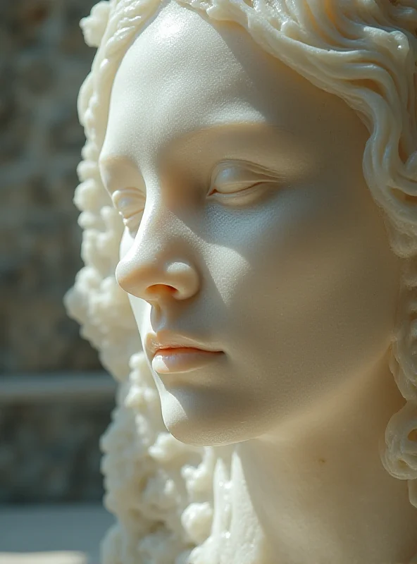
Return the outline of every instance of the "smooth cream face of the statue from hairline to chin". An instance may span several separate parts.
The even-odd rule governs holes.
[[[101,174],[126,224],[116,276],[181,441],[302,422],[385,357],[398,264],[367,137],[247,32],[175,2],[127,51]]]

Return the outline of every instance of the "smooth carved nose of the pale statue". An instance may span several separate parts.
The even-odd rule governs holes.
[[[132,247],[116,269],[119,285],[144,300],[169,293],[184,300],[197,293],[199,275],[189,228],[162,206],[145,209]]]

